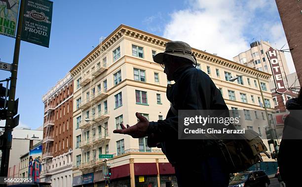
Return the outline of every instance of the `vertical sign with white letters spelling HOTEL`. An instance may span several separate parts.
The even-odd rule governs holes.
[[[287,91],[287,88],[285,88],[284,80],[281,74],[281,68],[277,58],[277,51],[270,47],[266,52],[266,55],[269,60],[271,72],[274,77],[276,93],[284,94]]]

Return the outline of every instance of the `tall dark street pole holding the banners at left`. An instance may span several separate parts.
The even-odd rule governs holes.
[[[15,94],[16,94],[16,84],[17,84],[17,72],[18,72],[18,63],[19,63],[19,53],[20,53],[20,43],[21,43],[21,32],[22,32],[22,22],[24,14],[24,5],[25,0],[20,0],[20,11],[18,16],[18,25],[17,25],[17,34],[15,41],[14,57],[11,69],[10,77],[10,87],[8,95],[8,105],[7,105],[7,114],[6,114],[6,123],[5,131],[3,133],[3,149],[2,149],[2,158],[0,166],[0,176],[7,177],[8,173],[8,163],[9,163],[9,153],[11,149],[12,142],[12,129],[15,127],[14,124],[14,113],[15,113]],[[6,185],[4,185],[5,187]]]

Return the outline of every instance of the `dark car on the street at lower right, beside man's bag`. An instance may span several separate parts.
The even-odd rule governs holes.
[[[260,170],[238,173],[229,182],[228,187],[268,187],[269,184],[266,173]]]

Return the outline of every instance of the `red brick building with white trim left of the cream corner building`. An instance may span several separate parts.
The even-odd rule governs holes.
[[[41,182],[70,187],[73,150],[73,79],[68,73],[43,95],[44,125]]]

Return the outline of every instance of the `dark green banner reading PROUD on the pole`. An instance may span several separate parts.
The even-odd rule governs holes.
[[[52,1],[25,0],[21,40],[49,47]]]

